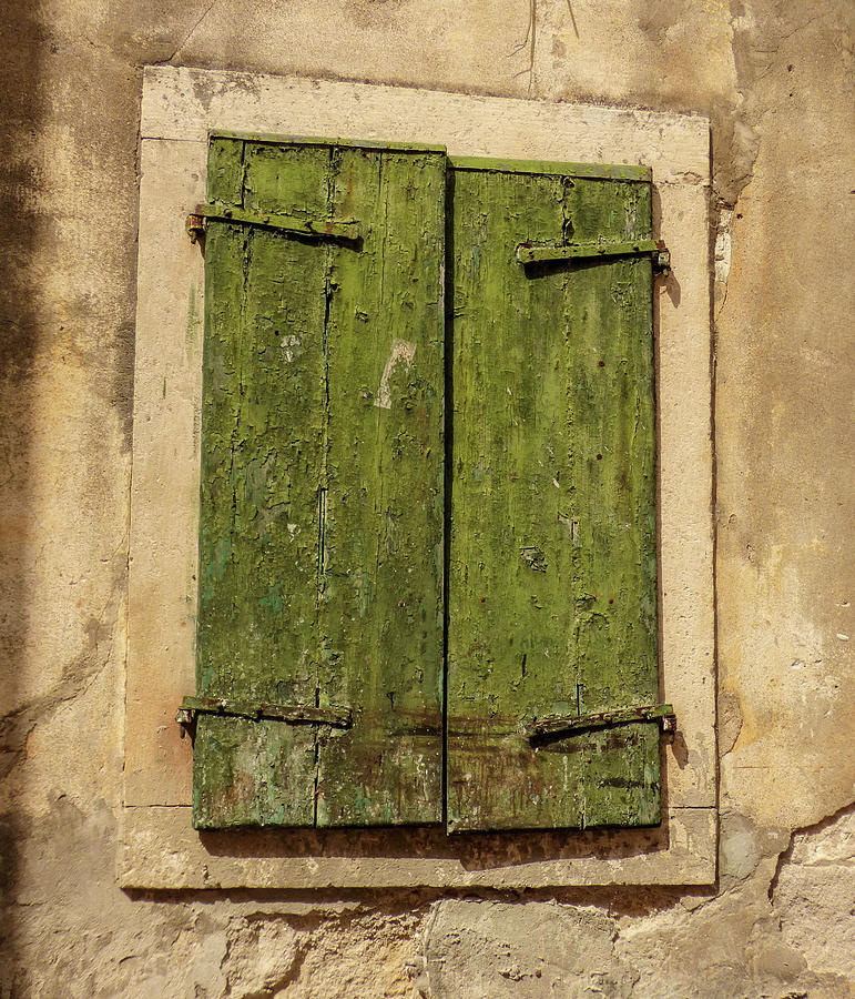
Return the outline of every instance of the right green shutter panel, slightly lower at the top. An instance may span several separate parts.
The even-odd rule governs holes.
[[[655,722],[528,738],[656,699],[652,263],[515,253],[649,240],[649,174],[452,167],[449,829],[656,824]]]

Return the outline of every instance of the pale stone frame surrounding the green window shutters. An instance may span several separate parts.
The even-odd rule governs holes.
[[[712,523],[709,121],[587,104],[301,77],[149,67],[143,78],[119,880],[133,889],[710,885],[717,787]],[[654,293],[663,754],[654,829],[240,830],[191,824],[203,258],[210,131],[430,143],[450,155],[643,163],[673,271]]]

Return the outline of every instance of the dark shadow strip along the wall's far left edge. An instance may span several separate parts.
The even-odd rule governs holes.
[[[45,238],[40,214],[35,135],[44,108],[41,79],[47,39],[38,4],[6,0],[0,34],[10,40],[0,61],[0,781],[21,759],[32,730],[17,679],[23,669],[32,561],[30,476],[32,371],[43,335],[33,289],[33,255]],[[23,820],[0,794],[0,993],[16,995],[14,896]]]

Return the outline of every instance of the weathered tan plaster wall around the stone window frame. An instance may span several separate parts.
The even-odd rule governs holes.
[[[6,0],[0,997],[853,995],[854,14],[848,0]],[[710,114],[714,889],[115,886],[136,135],[154,62]]]

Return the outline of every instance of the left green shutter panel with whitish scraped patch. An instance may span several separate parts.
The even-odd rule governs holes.
[[[437,821],[445,157],[214,137],[208,200],[194,825]]]

